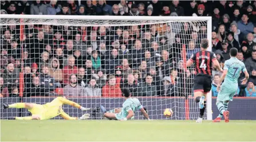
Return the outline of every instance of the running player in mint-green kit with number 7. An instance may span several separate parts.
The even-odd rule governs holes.
[[[242,84],[246,84],[247,80],[249,79],[249,74],[245,68],[245,64],[237,59],[237,48],[230,49],[230,56],[229,60],[225,61],[224,64],[224,71],[219,79],[217,91],[217,101],[216,106],[219,109],[219,116],[216,117],[214,122],[219,122],[222,116],[225,117],[225,122],[229,122],[229,111],[227,111],[227,107],[229,105],[229,101],[233,100],[235,92],[238,89],[238,78],[241,74],[241,71],[245,73],[245,79],[243,79]],[[224,82],[222,83],[222,81]],[[220,84],[222,83],[221,87]]]

